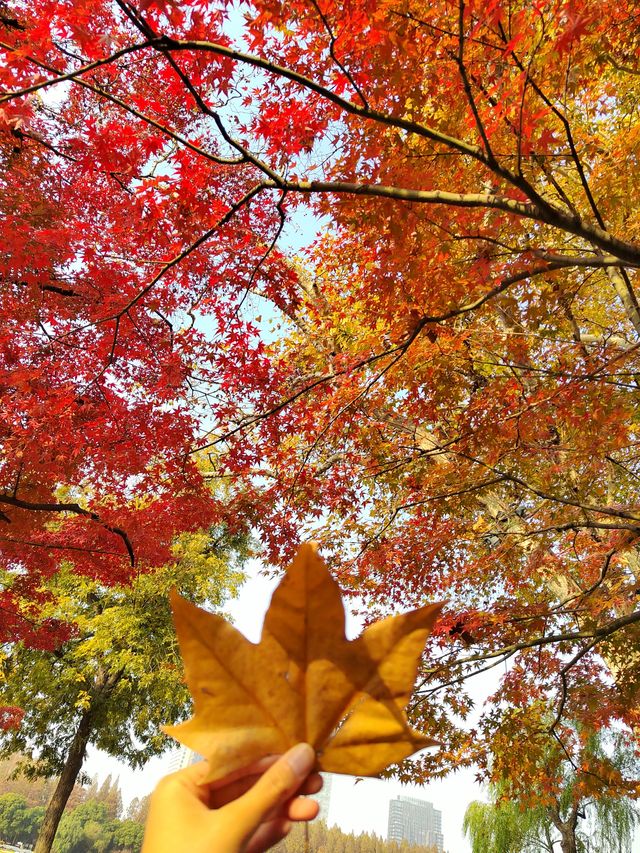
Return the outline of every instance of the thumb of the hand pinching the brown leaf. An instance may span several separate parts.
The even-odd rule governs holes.
[[[285,752],[258,779],[246,794],[232,805],[238,816],[238,828],[246,838],[270,814],[284,805],[300,788],[316,763],[316,754],[308,743],[299,743]]]

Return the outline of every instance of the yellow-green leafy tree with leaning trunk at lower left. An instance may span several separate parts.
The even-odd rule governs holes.
[[[72,630],[53,650],[19,643],[7,652],[0,690],[1,704],[25,709],[20,729],[2,733],[0,755],[23,753],[28,776],[58,777],[37,853],[51,850],[89,744],[133,767],[169,746],[160,724],[189,710],[169,590],[220,607],[240,579],[243,547],[224,533],[184,534],[175,561],[141,573],[132,587],[105,587],[72,566],[46,582],[40,618]]]

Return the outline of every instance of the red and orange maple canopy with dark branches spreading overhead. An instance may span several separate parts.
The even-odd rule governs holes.
[[[282,562],[312,525],[373,606],[450,599],[413,706],[440,767],[507,706],[569,751],[576,721],[637,725],[636,5],[0,9],[20,582],[108,580],[219,517]]]

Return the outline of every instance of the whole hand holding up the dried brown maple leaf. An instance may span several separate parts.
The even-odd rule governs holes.
[[[202,761],[161,780],[151,795],[142,853],[262,853],[313,820],[318,804],[299,794],[322,788],[313,748],[299,743],[218,782],[203,784]]]

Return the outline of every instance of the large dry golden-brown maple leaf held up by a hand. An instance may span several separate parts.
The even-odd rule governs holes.
[[[314,545],[302,545],[251,643],[221,616],[172,597],[194,716],[164,731],[209,760],[215,781],[300,741],[318,768],[374,776],[437,741],[404,708],[442,604],[344,635],[338,584]]]

